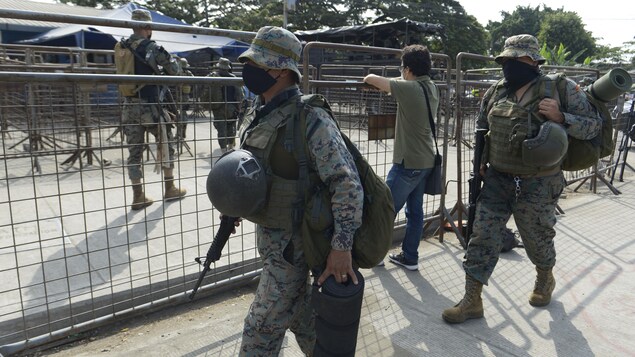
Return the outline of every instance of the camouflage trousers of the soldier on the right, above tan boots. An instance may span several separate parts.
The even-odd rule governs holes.
[[[514,176],[489,168],[463,262],[466,274],[487,284],[498,262],[503,230],[512,215],[531,262],[541,269],[552,268],[556,264],[556,205],[564,187],[562,172],[520,178],[516,183]]]

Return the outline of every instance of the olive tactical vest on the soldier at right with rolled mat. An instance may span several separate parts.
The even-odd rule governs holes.
[[[540,172],[551,171],[552,167],[531,167],[523,163],[522,143],[525,139],[533,138],[540,130],[540,125],[546,120],[537,114],[537,105],[542,100],[546,81],[542,76],[536,83],[530,85],[521,98],[515,103],[503,92],[502,81],[496,86],[490,98],[490,110],[487,115],[489,133],[489,163],[499,172],[516,175],[535,175]],[[501,98],[502,96],[502,98]]]

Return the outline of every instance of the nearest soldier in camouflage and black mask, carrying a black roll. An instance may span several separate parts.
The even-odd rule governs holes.
[[[289,31],[261,28],[250,48],[239,60],[245,64],[246,87],[259,96],[245,118],[241,148],[263,163],[269,182],[269,201],[257,217],[258,251],[263,271],[254,302],[245,318],[242,356],[277,356],[287,329],[291,329],[302,351],[313,353],[315,318],[311,306],[309,268],[302,250],[301,234],[292,228],[291,210],[297,197],[298,163],[284,148],[285,125],[299,122],[302,105],[297,62],[302,45]],[[357,284],[351,249],[353,235],[361,225],[363,190],[350,152],[333,119],[324,109],[307,107],[306,138],[309,168],[333,192],[335,218],[332,250],[322,284],[334,275],[337,282]]]

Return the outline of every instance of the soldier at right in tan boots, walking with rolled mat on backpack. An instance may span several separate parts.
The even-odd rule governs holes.
[[[549,79],[540,72],[539,65],[545,59],[540,55],[535,37],[509,37],[496,62],[503,67],[504,82],[487,91],[477,118],[477,135],[487,132],[480,167],[483,188],[463,262],[465,295],[442,314],[449,323],[483,317],[483,284],[487,285],[498,262],[503,230],[512,215],[527,256],[536,266],[529,303],[546,306],[551,302],[556,285],[552,272],[556,264],[554,225],[558,198],[565,187],[560,166],[566,146],[565,152],[554,153],[557,155],[555,165],[532,167],[523,163],[522,150],[514,144],[520,145],[522,140],[514,138],[522,132],[533,133],[537,129],[533,127],[535,122],[538,126],[547,121],[558,123],[566,129],[566,134],[582,140],[598,135],[602,126],[601,118],[573,81],[566,83],[566,108],[561,108],[557,93],[551,98],[540,95],[540,86]],[[535,119],[531,122],[532,128],[527,128],[528,117]]]

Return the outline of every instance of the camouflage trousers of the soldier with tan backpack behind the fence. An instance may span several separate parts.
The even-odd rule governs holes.
[[[167,129],[168,160],[170,167],[174,167],[175,142],[170,126]],[[159,135],[158,125],[153,119],[152,108],[149,105],[130,104],[123,108],[123,132],[128,144],[128,177],[131,180],[142,179],[143,151],[146,148],[145,136],[150,133],[156,140]]]

